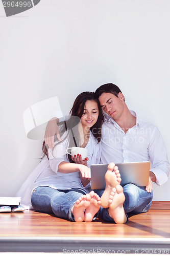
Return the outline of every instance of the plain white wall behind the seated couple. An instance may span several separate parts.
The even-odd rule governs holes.
[[[41,0],[8,18],[0,4],[0,195],[14,196],[41,157],[23,111],[58,96],[66,114],[80,92],[107,82],[159,127],[170,159],[169,31],[169,0]],[[170,200],[169,185],[155,185],[154,200]]]

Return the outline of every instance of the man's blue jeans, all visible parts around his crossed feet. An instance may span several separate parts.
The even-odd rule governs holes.
[[[140,214],[147,212],[152,204],[153,192],[148,193],[145,187],[138,187],[134,184],[127,184],[123,187],[125,194],[124,209],[125,213]],[[100,197],[103,195],[104,189],[95,189]],[[105,221],[114,220],[109,216],[108,208],[101,207],[100,215]]]

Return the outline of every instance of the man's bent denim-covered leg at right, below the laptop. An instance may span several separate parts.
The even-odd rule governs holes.
[[[125,212],[140,213],[147,212],[152,204],[153,192],[148,193],[145,187],[138,187],[134,184],[127,184],[123,187]]]

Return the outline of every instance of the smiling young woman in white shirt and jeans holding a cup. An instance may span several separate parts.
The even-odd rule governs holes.
[[[71,221],[94,219],[101,201],[94,191],[89,193],[89,167],[100,161],[103,121],[95,94],[83,92],[78,95],[70,118],[60,125],[61,141],[56,139],[52,149],[47,149],[43,142],[44,158],[18,191],[23,205]],[[68,155],[66,148],[72,146],[87,148],[87,158],[82,160],[81,155]]]

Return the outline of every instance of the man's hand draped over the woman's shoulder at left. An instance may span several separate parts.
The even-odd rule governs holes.
[[[57,135],[57,138],[59,141],[61,141],[59,129],[57,122],[59,119],[57,117],[52,118],[50,121],[48,121],[46,125],[45,135],[44,135],[44,141],[45,144],[47,144],[50,148],[54,147],[54,136]]]

